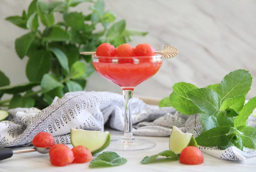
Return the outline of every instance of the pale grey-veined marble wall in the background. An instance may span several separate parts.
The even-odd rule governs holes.
[[[0,69],[11,84],[26,82],[28,58],[20,60],[14,40],[26,33],[4,20],[20,15],[30,0],[0,0]],[[191,82],[199,87],[218,83],[225,74],[243,68],[254,77],[247,98],[256,95],[256,1],[255,0],[105,0],[117,20],[126,19],[128,28],[148,31],[131,43],[150,43],[157,50],[164,45],[178,48],[179,55],[164,59],[160,71],[135,89],[135,94],[166,97],[175,82]],[[88,4],[75,10],[88,13]],[[118,86],[96,72],[86,90],[121,93]]]

